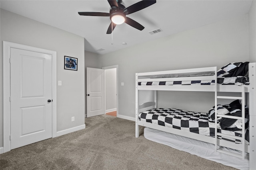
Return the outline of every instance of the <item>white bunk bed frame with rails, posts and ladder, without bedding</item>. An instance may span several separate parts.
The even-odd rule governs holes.
[[[213,76],[195,76],[195,77],[175,77],[175,78],[145,78],[149,75],[159,75],[159,74],[177,74],[177,73],[188,73],[188,72],[207,72],[214,71],[215,75]],[[189,137],[192,139],[196,139],[199,141],[204,141],[207,143],[212,143],[215,145],[215,150],[218,152],[222,152],[225,154],[229,154],[232,156],[236,156],[244,159],[244,152],[249,153],[250,160],[250,169],[256,169],[256,63],[249,63],[249,80],[250,85],[171,85],[171,86],[161,86],[161,85],[152,85],[152,86],[138,86],[138,82],[162,82],[162,81],[184,81],[184,80],[215,80],[217,82],[217,68],[216,67],[206,67],[206,68],[192,68],[192,69],[183,69],[183,70],[169,70],[169,71],[158,71],[158,72],[144,72],[144,73],[136,73],[136,133],[135,136],[139,137],[139,125],[144,127],[149,127],[152,129],[157,129],[160,131],[165,131],[168,133],[173,133],[176,135]],[[140,76],[144,76],[141,78]],[[154,91],[154,101],[149,101],[144,104],[139,104],[139,90],[153,90]],[[144,121],[139,120],[139,113],[148,109],[157,107],[157,91],[165,90],[165,91],[200,91],[200,92],[214,92],[214,101],[215,108],[217,108],[217,99],[240,99],[242,100],[242,121],[244,128],[244,105],[245,105],[245,94],[249,94],[249,102],[247,102],[249,106],[249,133],[250,133],[250,144],[245,145],[244,140],[244,129],[242,129],[243,138],[239,138],[242,141],[242,144],[236,144],[229,141],[221,140],[217,138],[217,135],[225,136],[224,134],[217,133],[217,129],[215,128],[215,138],[204,136],[196,133],[191,133],[188,131],[182,131],[179,129],[174,129],[170,127],[165,127],[161,125],[156,125]],[[230,97],[230,96],[218,96],[217,92],[240,92],[241,96],[239,97]],[[227,117],[226,115],[215,115],[216,117]],[[241,119],[241,117],[227,117],[232,119]],[[217,125],[217,121],[215,122],[215,126]],[[234,139],[238,139],[237,137],[233,137]],[[224,152],[223,150],[217,149],[217,146],[228,147],[231,149],[241,150],[242,154],[237,155],[230,152]]]

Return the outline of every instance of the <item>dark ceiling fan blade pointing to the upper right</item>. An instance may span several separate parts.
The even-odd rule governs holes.
[[[147,8],[148,6],[153,5],[155,3],[156,3],[156,0],[142,0],[140,2],[137,2],[136,4],[133,4],[127,8],[124,8],[124,14],[126,15],[132,14],[134,12]]]

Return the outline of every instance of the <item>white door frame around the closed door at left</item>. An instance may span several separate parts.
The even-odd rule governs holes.
[[[52,138],[57,133],[57,52],[3,41],[3,153],[11,150],[10,141],[10,49],[17,48],[52,55]]]

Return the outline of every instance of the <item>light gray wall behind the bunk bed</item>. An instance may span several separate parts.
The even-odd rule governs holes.
[[[220,68],[230,62],[249,61],[248,29],[248,15],[243,15],[102,55],[102,66],[118,65],[119,115],[135,117],[136,72]],[[184,97],[186,94],[190,97]],[[160,107],[208,111],[214,104],[211,95],[159,92],[158,101]]]

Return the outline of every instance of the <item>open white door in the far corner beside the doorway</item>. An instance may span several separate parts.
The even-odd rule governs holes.
[[[104,114],[104,70],[86,68],[87,117]]]

